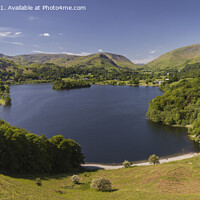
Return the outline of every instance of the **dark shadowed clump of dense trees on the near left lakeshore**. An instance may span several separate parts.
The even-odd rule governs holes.
[[[0,120],[0,171],[4,173],[62,173],[79,169],[81,146],[62,135],[50,139]]]

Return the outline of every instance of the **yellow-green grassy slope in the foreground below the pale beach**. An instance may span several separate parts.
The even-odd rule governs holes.
[[[46,177],[41,187],[31,178],[11,178],[0,175],[0,199],[200,199],[200,157],[168,164],[99,170],[80,174],[81,184],[71,187],[70,176]],[[97,192],[89,188],[95,177],[105,177],[113,183],[112,192]]]

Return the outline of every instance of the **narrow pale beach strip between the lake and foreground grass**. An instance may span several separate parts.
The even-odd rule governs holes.
[[[178,156],[174,156],[174,157],[161,158],[160,164],[168,163],[168,162],[172,162],[172,161],[184,160],[184,159],[192,158],[192,157],[198,156],[198,155],[200,155],[200,153],[191,152],[191,153],[178,155]],[[147,162],[141,162],[141,163],[136,162],[131,166],[134,167],[134,166],[148,166],[148,165],[152,165],[152,164],[149,164],[148,161]],[[97,169],[113,170],[113,169],[124,168],[123,165],[106,165],[106,164],[98,164],[98,163],[86,163],[86,164],[82,164],[81,166],[86,168],[86,169],[90,169],[90,170],[97,170]]]

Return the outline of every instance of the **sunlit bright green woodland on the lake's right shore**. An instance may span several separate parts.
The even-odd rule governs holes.
[[[153,99],[147,115],[158,123],[191,125],[189,132],[200,135],[200,78],[181,80],[160,87],[164,94]]]

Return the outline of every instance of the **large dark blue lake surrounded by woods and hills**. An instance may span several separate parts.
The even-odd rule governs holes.
[[[157,87],[98,86],[55,91],[51,84],[11,86],[12,105],[0,107],[1,119],[48,138],[62,134],[81,144],[86,162],[124,160],[199,151],[185,128],[146,118]]]

